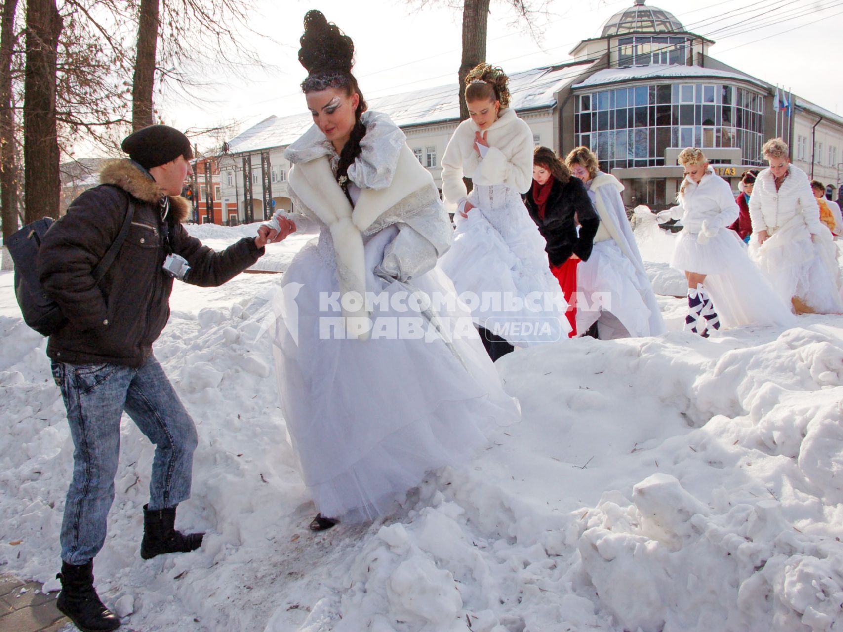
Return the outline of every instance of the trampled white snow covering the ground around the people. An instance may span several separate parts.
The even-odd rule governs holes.
[[[144,632],[843,629],[843,316],[682,333],[674,238],[651,219],[636,236],[668,334],[504,357],[519,424],[395,514],[321,534],[263,328],[281,276],[177,284],[155,352],[200,437],[179,525],[207,536],[141,560],[153,447],[126,420],[95,563],[105,603]],[[215,247],[249,231],[191,228]],[[261,265],[283,270],[307,238]],[[0,570],[56,589],[72,445],[10,272],[0,335]]]

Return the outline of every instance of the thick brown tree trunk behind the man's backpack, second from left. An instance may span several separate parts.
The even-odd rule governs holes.
[[[56,0],[29,0],[24,73],[24,206],[26,223],[58,217],[56,49],[62,18]]]

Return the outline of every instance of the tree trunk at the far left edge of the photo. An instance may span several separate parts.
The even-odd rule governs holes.
[[[12,108],[12,51],[17,8],[18,0],[5,0],[0,26],[0,221],[3,222],[3,244],[8,244],[8,238],[18,229],[18,147]],[[3,269],[7,267],[8,255],[4,247]]]

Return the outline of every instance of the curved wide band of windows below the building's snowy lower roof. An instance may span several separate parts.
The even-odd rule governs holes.
[[[741,147],[744,164],[762,166],[764,97],[749,89],[668,83],[578,96],[577,144],[606,171],[663,165],[668,147]]]

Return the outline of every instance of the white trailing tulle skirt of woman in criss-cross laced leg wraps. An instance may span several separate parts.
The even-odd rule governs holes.
[[[696,239],[696,233],[680,233],[671,265],[706,275],[703,286],[723,326],[796,324],[790,301],[784,302],[749,260],[738,233],[722,228],[706,244]]]

